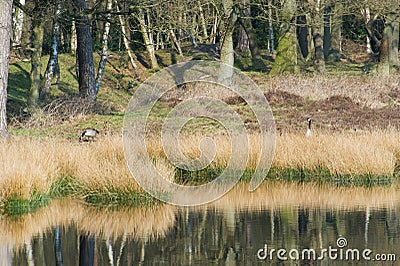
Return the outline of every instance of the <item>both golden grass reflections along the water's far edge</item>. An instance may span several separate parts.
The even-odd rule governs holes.
[[[240,182],[219,200],[196,209],[280,210],[299,206],[326,210],[360,210],[369,207],[395,208],[400,203],[399,188],[338,187],[299,182],[264,182],[257,190],[248,191]],[[27,239],[48,233],[54,226],[77,227],[77,232],[90,232],[101,239],[115,240],[128,236],[135,240],[165,236],[176,226],[176,208],[169,204],[144,208],[97,208],[70,199],[53,200],[46,208],[19,217],[3,216],[0,220],[0,242],[23,248]]]

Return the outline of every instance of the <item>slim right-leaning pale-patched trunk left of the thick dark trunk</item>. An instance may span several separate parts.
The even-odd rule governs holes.
[[[43,86],[40,91],[40,98],[44,99],[48,96],[51,81],[55,75],[58,66],[58,46],[60,41],[60,24],[58,22],[61,13],[61,5],[57,3],[57,10],[53,20],[53,36],[51,41],[51,53],[47,63],[46,72],[44,74]]]

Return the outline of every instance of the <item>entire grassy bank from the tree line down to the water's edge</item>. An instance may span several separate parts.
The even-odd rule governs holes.
[[[47,63],[43,58],[43,64]],[[29,95],[29,62],[10,66],[7,112],[13,137],[0,141],[0,209],[19,214],[35,210],[56,197],[72,197],[95,204],[151,205],[126,167],[121,137],[125,107],[140,84],[127,61],[109,58],[98,101],[88,105],[77,95],[75,56],[60,55],[61,81],[51,88],[48,101],[37,112],[25,108]],[[169,63],[166,63],[167,65]],[[333,182],[341,185],[387,184],[398,175],[398,74],[387,78],[361,75],[361,65],[328,73],[269,77],[247,72],[268,99],[277,126],[276,153],[269,179]],[[340,71],[339,71],[339,70]],[[44,71],[44,69],[43,69]],[[143,71],[142,81],[151,74]],[[157,135],[163,119],[180,102],[198,94],[221,99],[235,110],[251,133],[252,148],[243,179],[257,165],[257,121],[237,95],[198,84],[175,88],[154,106],[148,122]],[[208,86],[209,84],[207,84]],[[305,138],[305,117],[314,119],[313,137]],[[390,130],[383,130],[389,127]],[[79,143],[86,127],[100,130],[94,143]],[[183,153],[200,156],[201,134],[221,129],[212,119],[193,119],[182,131]],[[118,134],[118,133],[117,133]],[[198,134],[198,135],[197,135]],[[217,177],[231,158],[230,141],[216,136],[217,153],[201,171],[175,169],[166,160],[160,140],[150,137],[148,152],[162,175],[184,184],[201,184]],[[196,145],[195,145],[196,144]],[[204,152],[212,155],[213,151]],[[143,167],[142,173],[148,174]]]

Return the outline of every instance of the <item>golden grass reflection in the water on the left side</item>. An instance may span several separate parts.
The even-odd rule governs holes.
[[[101,239],[116,239],[125,235],[135,240],[163,237],[175,222],[175,208],[158,205],[140,208],[103,208],[71,200],[52,200],[46,208],[18,217],[3,216],[0,220],[0,242],[23,248],[26,241],[55,226],[77,227],[77,232],[90,233]]]

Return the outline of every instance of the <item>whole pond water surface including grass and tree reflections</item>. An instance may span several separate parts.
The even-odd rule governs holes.
[[[238,186],[195,208],[54,201],[18,219],[2,217],[0,265],[256,265],[284,258],[292,265],[342,265],[376,255],[391,260],[382,265],[397,265],[398,192],[268,184],[255,193]],[[280,258],[273,249],[281,249]]]

